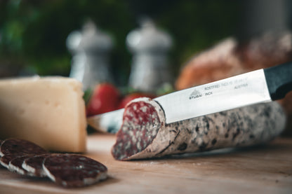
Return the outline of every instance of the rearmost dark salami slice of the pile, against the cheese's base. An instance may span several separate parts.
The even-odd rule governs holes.
[[[0,147],[0,155],[7,154],[42,154],[48,153],[44,148],[25,139],[6,139]]]

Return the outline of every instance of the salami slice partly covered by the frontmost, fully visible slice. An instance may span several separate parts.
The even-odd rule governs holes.
[[[22,168],[27,170],[29,174],[32,174],[33,176],[38,177],[45,177],[46,172],[43,168],[43,163],[46,157],[48,157],[49,154],[42,154],[42,155],[33,155],[29,158],[26,158],[22,162]]]

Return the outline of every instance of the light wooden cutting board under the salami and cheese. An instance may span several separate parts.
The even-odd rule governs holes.
[[[0,193],[292,193],[292,138],[254,148],[131,162],[112,158],[114,140],[112,134],[88,137],[86,155],[108,167],[105,181],[67,189],[1,168]]]

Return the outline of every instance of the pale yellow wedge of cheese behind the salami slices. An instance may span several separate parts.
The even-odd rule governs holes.
[[[83,95],[73,78],[0,80],[0,139],[27,139],[50,151],[86,151]]]

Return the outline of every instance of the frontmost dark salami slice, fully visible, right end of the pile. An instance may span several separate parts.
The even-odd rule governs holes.
[[[44,160],[47,176],[65,187],[91,185],[107,177],[107,167],[84,155],[52,154]]]

